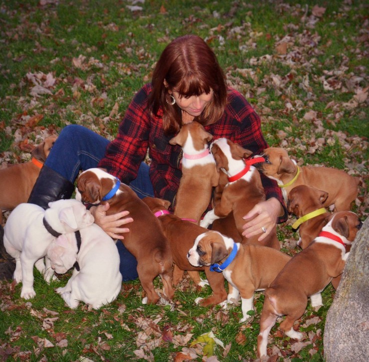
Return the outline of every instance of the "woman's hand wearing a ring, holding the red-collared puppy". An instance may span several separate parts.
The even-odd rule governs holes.
[[[259,241],[265,239],[277,223],[277,218],[282,214],[282,206],[276,198],[271,198],[256,204],[244,217],[244,220],[252,219],[243,226],[242,235],[250,238],[259,235]],[[265,230],[265,232],[264,232]]]

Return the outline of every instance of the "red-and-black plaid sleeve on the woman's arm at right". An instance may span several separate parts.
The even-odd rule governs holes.
[[[222,118],[207,127],[214,139],[226,137],[235,143],[249,149],[254,155],[261,154],[268,147],[262,132],[260,117],[236,90],[229,88],[228,104]],[[275,180],[261,174],[261,182],[265,190],[266,199],[276,198],[282,205],[284,215],[278,218],[278,223],[287,220],[287,210],[280,188]]]

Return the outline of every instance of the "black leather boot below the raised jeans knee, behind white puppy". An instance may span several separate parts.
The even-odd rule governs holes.
[[[51,201],[70,199],[73,191],[74,184],[70,180],[44,165],[41,168],[28,202],[41,206],[46,210],[49,208]]]

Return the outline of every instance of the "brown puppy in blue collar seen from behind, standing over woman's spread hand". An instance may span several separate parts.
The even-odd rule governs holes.
[[[76,199],[91,204],[108,202],[107,215],[129,211],[134,221],[130,223],[130,232],[124,234],[123,243],[137,259],[138,276],[147,295],[142,302],[156,304],[159,301],[153,285],[157,275],[163,282],[164,294],[171,300],[174,290],[170,246],[160,222],[135,192],[103,169],[90,168],[77,179]]]

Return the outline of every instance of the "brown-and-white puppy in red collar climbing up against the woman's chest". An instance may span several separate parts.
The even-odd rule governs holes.
[[[252,165],[259,160],[245,161],[252,152],[227,138],[216,139],[211,144],[211,152],[217,167],[228,175],[228,184],[224,187],[220,202],[205,215],[200,225],[207,228],[216,219],[224,218],[233,212],[237,230],[242,234],[245,223],[243,216],[256,204],[266,200],[260,174]],[[258,237],[259,235],[251,238],[243,237],[242,243],[280,249],[276,226],[263,241],[259,242]]]

